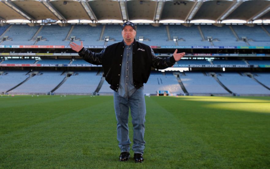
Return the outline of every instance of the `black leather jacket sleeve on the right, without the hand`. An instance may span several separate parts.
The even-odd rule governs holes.
[[[166,69],[172,67],[175,64],[173,56],[165,58],[157,57],[153,49],[151,49],[151,53],[152,53],[152,67],[156,69]]]

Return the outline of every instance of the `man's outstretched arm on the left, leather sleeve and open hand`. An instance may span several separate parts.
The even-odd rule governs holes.
[[[72,50],[78,52],[78,54],[83,58],[83,60],[94,65],[101,65],[101,60],[105,49],[103,49],[101,53],[91,52],[90,50],[83,47],[82,41],[81,45],[77,45],[76,43],[72,42],[69,44],[69,46],[72,48]]]

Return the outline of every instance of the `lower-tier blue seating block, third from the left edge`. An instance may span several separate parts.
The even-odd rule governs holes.
[[[97,71],[78,71],[67,78],[55,94],[92,94],[97,89],[101,76],[97,76]]]

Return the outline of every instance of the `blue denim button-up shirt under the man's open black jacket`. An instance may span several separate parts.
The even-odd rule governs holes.
[[[133,43],[131,45],[126,45],[125,43],[120,74],[120,84],[118,88],[118,94],[126,98],[130,97],[137,90],[133,83],[132,46]]]

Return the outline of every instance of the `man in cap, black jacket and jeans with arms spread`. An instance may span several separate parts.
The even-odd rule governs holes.
[[[147,82],[151,67],[156,69],[171,67],[185,53],[177,53],[176,49],[171,57],[157,57],[148,45],[137,42],[134,39],[135,35],[135,25],[132,22],[125,22],[122,26],[124,40],[106,47],[101,53],[94,53],[84,48],[82,41],[81,45],[72,42],[70,47],[85,61],[102,65],[105,80],[114,90],[113,101],[117,120],[117,140],[121,150],[120,161],[127,161],[130,158],[131,142],[128,136],[130,108],[134,130],[132,150],[135,162],[142,162],[146,114],[143,83]]]

